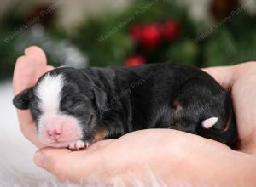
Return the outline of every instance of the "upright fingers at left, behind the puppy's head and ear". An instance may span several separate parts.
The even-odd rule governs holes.
[[[47,65],[46,56],[41,48],[26,48],[25,55],[20,56],[16,61],[13,78],[14,94],[19,94],[24,89],[34,86],[38,78],[51,69],[53,67]],[[38,147],[43,147],[44,145],[38,140],[35,122],[30,111],[17,109],[17,115],[21,132],[26,139]]]

